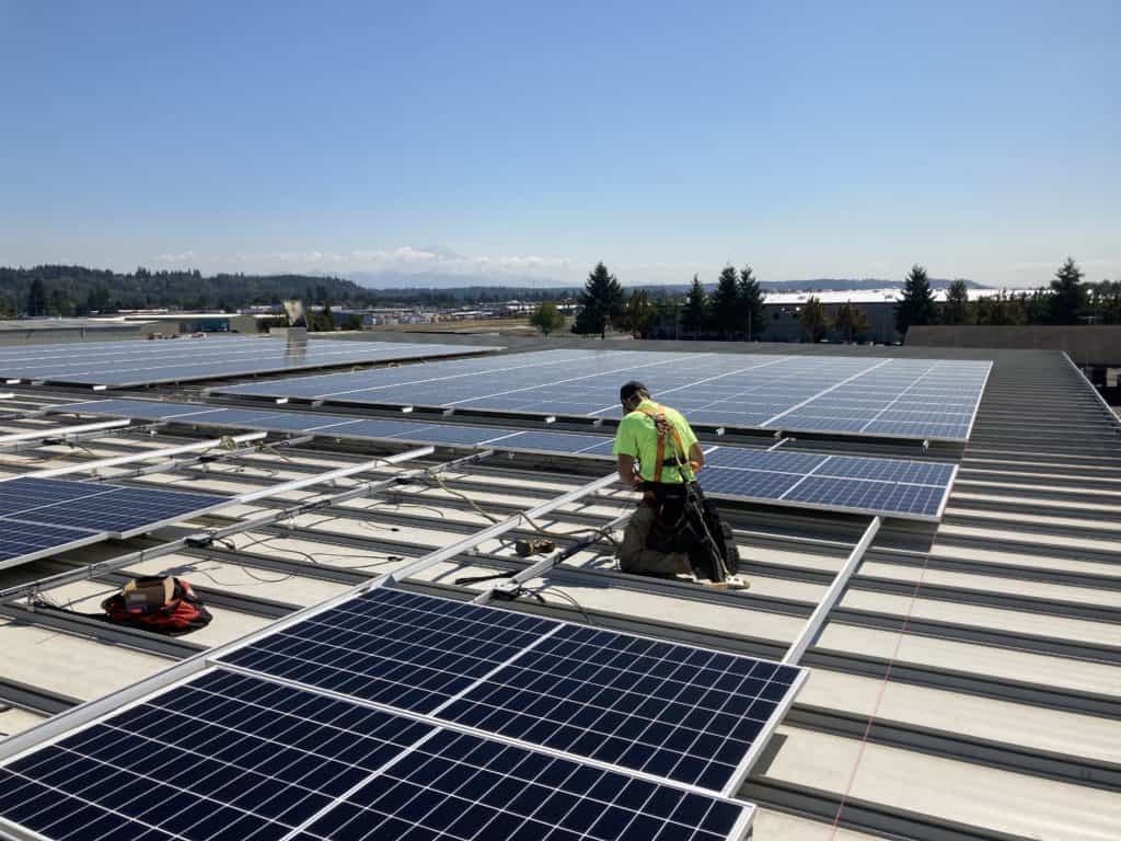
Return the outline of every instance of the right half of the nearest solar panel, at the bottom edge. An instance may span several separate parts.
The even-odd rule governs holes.
[[[723,841],[744,805],[441,730],[302,841]]]

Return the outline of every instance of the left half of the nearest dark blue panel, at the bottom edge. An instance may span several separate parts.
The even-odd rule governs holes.
[[[211,673],[0,769],[0,815],[52,839],[278,841],[433,732]]]

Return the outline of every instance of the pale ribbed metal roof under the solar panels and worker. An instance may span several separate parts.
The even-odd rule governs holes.
[[[765,345],[705,349],[766,351]],[[784,345],[784,352],[790,350]],[[807,345],[805,352],[821,353],[823,346]],[[972,438],[960,453],[943,521],[936,528],[888,521],[807,653],[810,677],[741,791],[760,806],[754,838],[1115,839],[1121,826],[1121,423],[1057,352],[877,348],[874,353],[992,359],[994,368]],[[0,433],[78,423],[26,413],[87,397],[63,389],[13,390],[13,399],[0,403],[12,414],[0,419]],[[101,437],[2,453],[0,471],[80,464],[214,433],[170,425],[95,434]],[[818,441],[814,446],[906,452],[898,442]],[[184,463],[175,471],[129,475],[136,468],[129,464],[104,475],[244,493],[360,463],[377,452],[369,444],[316,438],[287,450]],[[450,458],[441,451],[423,461]],[[458,495],[502,517],[584,484],[602,473],[602,465],[587,470],[545,456],[483,461],[451,472],[446,489],[430,483],[388,489],[238,535],[229,545],[137,561],[46,591],[56,603],[92,610],[131,574],[174,571],[197,586],[215,614],[204,632],[178,639],[49,610],[31,612],[24,601],[0,606],[0,699],[10,704],[0,712],[0,732],[24,731],[43,715],[235,639],[489,525]],[[276,510],[314,492],[259,499],[207,521],[228,524],[230,517]],[[628,493],[609,488],[543,518],[541,525],[573,532],[602,525],[630,505]],[[726,514],[750,591],[717,593],[624,575],[606,554],[589,551],[534,582],[544,604],[522,599],[508,607],[781,656],[867,520],[758,507]],[[167,528],[159,537],[196,528]],[[3,570],[0,589],[160,543],[133,538]],[[485,584],[462,579],[526,563],[510,540],[498,538],[406,584],[463,598]]]

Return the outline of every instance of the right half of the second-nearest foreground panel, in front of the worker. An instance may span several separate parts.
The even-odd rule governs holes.
[[[438,715],[720,789],[799,674],[750,657],[565,626]]]

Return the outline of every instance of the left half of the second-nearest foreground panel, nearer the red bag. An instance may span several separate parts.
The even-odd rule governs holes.
[[[379,589],[222,659],[430,712],[554,627],[522,613]]]

